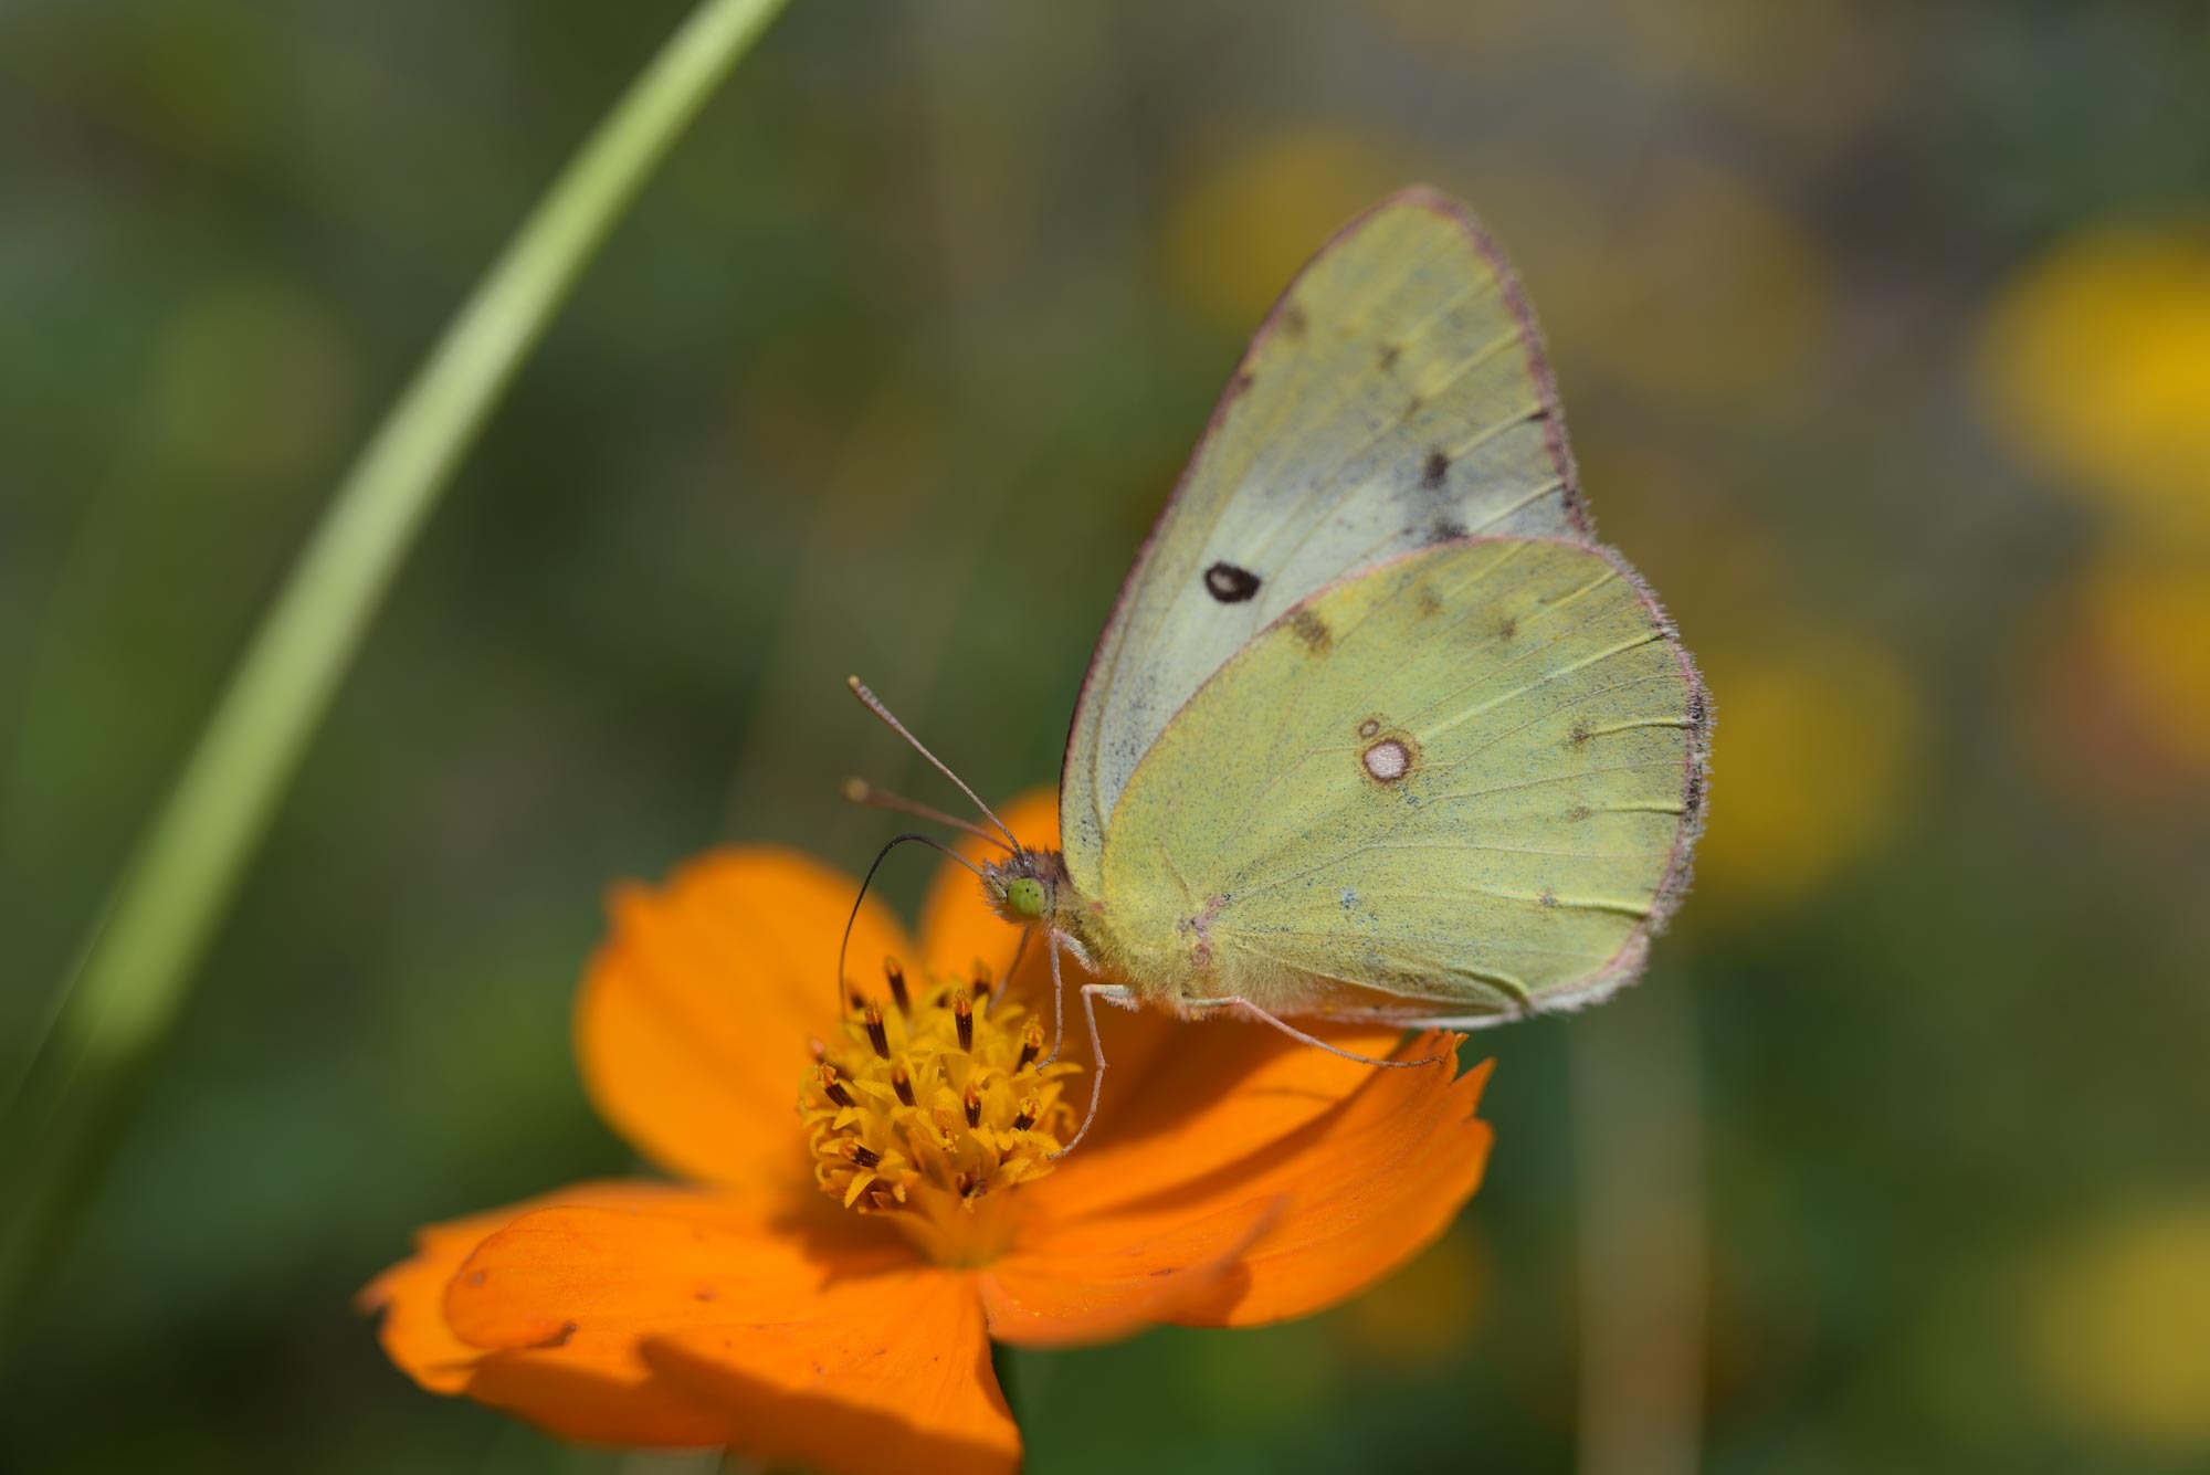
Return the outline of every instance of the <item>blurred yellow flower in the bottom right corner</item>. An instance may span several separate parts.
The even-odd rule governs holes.
[[[2210,1201],[2069,1245],[2031,1307],[2031,1354],[2073,1418],[2210,1451]]]

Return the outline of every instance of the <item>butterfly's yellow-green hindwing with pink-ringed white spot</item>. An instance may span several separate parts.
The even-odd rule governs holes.
[[[1291,609],[1160,733],[1101,855],[1123,965],[1277,1014],[1598,998],[1686,881],[1706,700],[1635,574],[1417,550]]]

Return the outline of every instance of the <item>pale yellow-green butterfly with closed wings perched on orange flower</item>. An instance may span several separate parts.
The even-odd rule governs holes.
[[[1054,980],[1109,980],[1094,1049],[1098,1000],[1322,1049],[1288,1020],[1483,1027],[1638,976],[1708,753],[1688,651],[1596,541],[1527,294],[1414,185],[1260,325],[1090,660],[1061,848],[1006,832],[979,874]]]

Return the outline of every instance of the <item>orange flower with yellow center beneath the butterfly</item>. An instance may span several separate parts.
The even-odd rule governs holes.
[[[1056,830],[1041,799],[1008,821]],[[1054,1164],[1087,1064],[1078,1029],[1065,1060],[1036,1058],[1041,949],[990,989],[1019,934],[946,868],[919,945],[860,912],[851,956],[902,967],[840,1022],[829,958],[851,896],[767,848],[614,894],[577,1002],[583,1080],[696,1186],[581,1184],[422,1230],[362,1294],[400,1369],[575,1440],[1012,1471],[990,1338],[1304,1316],[1410,1259],[1481,1184],[1487,1067],[1452,1082],[1255,1025],[1118,1014],[1096,1131]]]

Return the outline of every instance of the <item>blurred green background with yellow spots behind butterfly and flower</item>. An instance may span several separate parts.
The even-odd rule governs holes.
[[[347,455],[681,13],[0,9],[7,1075]],[[623,1468],[415,1391],[349,1296],[632,1166],[568,1055],[608,881],[860,868],[838,779],[933,793],[846,671],[1052,782],[1242,338],[1412,179],[1516,256],[1704,662],[1699,885],[1642,989],[1478,1042],[1448,1241],[1019,1358],[1032,1468],[2210,1466],[2203,11],[798,0],[396,590],[0,1468]]]

